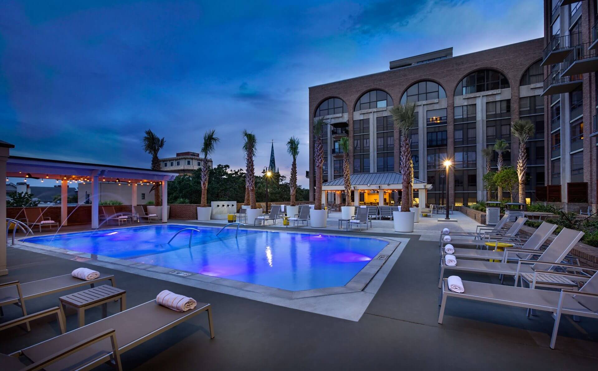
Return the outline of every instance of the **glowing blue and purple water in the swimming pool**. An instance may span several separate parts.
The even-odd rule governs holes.
[[[185,225],[102,229],[27,238],[25,241],[230,280],[309,290],[344,286],[388,244],[376,238],[269,232]]]

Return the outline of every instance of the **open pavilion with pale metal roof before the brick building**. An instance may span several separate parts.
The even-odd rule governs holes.
[[[351,189],[353,190],[353,204],[359,206],[359,192],[374,192],[378,194],[378,204],[384,205],[384,192],[402,190],[403,176],[395,171],[385,171],[383,173],[356,173],[350,175]],[[428,190],[432,189],[431,184],[423,180],[413,179],[413,190],[423,191],[423,200],[428,198]],[[327,193],[335,192],[340,203],[340,192],[344,192],[344,179],[331,180],[322,184],[322,203],[326,203]],[[382,197],[380,197],[382,195]],[[420,194],[420,198],[422,195]],[[425,201],[424,201],[425,202]]]

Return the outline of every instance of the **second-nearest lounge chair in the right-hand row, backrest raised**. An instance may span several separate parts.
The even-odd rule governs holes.
[[[512,275],[515,278],[517,286],[518,277],[524,273],[533,274],[534,271],[546,271],[554,263],[560,263],[569,254],[573,246],[581,239],[584,232],[574,231],[573,229],[563,228],[553,242],[544,250],[544,252],[534,252],[527,250],[526,253],[532,256],[539,256],[538,260],[520,259],[517,263],[494,263],[484,260],[457,260],[457,265],[446,265],[444,256],[440,259],[440,279],[438,288],[443,282],[444,271],[462,271],[462,272],[480,272],[500,275]],[[531,265],[529,265],[531,264]],[[573,266],[573,265],[569,265]]]

